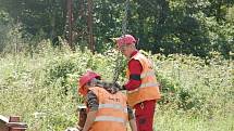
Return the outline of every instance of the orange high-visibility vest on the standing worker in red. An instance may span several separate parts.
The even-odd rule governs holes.
[[[137,103],[147,100],[159,100],[161,99],[159,92],[159,83],[157,82],[152,63],[139,52],[136,53],[132,58],[139,61],[143,66],[143,73],[140,74],[141,84],[139,88],[127,91],[127,103],[134,107]],[[131,60],[132,60],[131,58]],[[130,60],[130,61],[131,61]],[[130,70],[127,68],[126,77],[130,79]]]

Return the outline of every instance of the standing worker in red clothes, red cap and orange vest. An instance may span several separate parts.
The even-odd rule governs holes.
[[[114,38],[118,49],[128,60],[126,77],[122,87],[127,90],[127,103],[135,108],[138,131],[153,130],[153,115],[157,101],[161,97],[152,62],[136,49],[132,35]]]

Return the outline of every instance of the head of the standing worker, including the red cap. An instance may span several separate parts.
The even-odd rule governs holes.
[[[132,52],[136,50],[136,39],[132,35],[123,35],[120,38],[114,39],[118,49],[125,55],[130,57]]]

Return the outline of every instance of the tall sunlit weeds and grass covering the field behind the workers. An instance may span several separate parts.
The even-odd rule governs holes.
[[[27,53],[0,57],[0,113],[22,116],[28,131],[62,131],[77,121],[78,77],[94,69],[112,80],[116,52],[93,55],[88,50],[53,49],[49,41],[40,45],[33,57]],[[157,130],[234,129],[233,60],[215,53],[209,61],[180,54],[151,58],[163,92],[156,113]],[[124,70],[119,82],[124,82]]]

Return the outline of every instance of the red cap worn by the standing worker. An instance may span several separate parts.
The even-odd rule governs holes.
[[[136,39],[132,35],[124,35],[116,39],[118,47],[122,47],[123,44],[133,44],[136,43]]]

